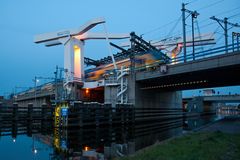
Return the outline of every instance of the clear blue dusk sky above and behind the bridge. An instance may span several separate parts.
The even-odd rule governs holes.
[[[11,92],[15,86],[33,86],[34,76],[53,76],[56,65],[63,66],[63,46],[46,48],[34,44],[39,33],[76,28],[86,21],[105,17],[111,33],[143,34],[146,40],[160,40],[181,32],[181,0],[1,0],[0,1],[0,95]],[[239,0],[189,0],[187,8],[197,10],[201,33],[223,31],[209,19],[231,17],[238,22]],[[165,25],[168,24],[169,25]],[[188,20],[187,30],[190,30]],[[175,26],[174,30],[170,32]],[[162,27],[163,26],[163,27]],[[233,29],[232,29],[233,30]],[[103,32],[102,26],[94,31]],[[239,31],[239,29],[235,29]],[[222,44],[221,38],[218,44]],[[91,40],[85,45],[85,56],[99,59],[108,56],[105,41]],[[240,92],[239,87],[230,89]],[[194,92],[189,92],[189,95]]]

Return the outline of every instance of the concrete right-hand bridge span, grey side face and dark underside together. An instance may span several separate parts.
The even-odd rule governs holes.
[[[142,90],[189,90],[208,87],[240,85],[240,56],[232,54],[207,60],[169,66],[167,74],[148,71],[137,73],[136,81]]]

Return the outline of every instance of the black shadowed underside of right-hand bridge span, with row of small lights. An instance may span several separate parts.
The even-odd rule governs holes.
[[[240,85],[240,65],[138,81],[141,89],[189,90]]]

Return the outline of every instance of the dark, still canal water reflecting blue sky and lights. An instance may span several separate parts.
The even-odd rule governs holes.
[[[181,123],[141,122],[116,126],[54,128],[51,121],[2,121],[1,160],[104,160],[133,154],[135,151],[169,137],[199,128],[217,119],[203,116],[183,119]],[[171,122],[171,123],[170,123]]]

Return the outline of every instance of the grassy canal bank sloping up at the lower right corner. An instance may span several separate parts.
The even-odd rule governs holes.
[[[169,139],[121,160],[235,160],[240,159],[240,117],[218,122]]]

